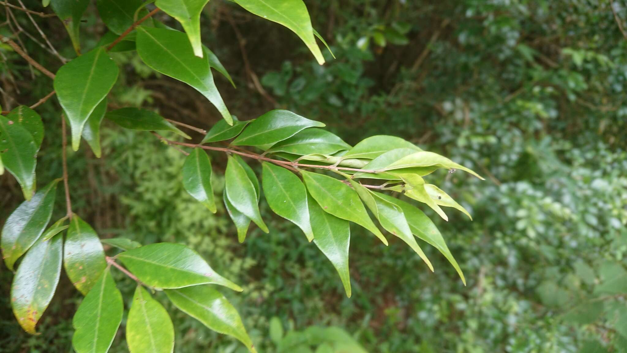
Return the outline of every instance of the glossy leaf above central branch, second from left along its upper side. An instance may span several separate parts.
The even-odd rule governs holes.
[[[285,152],[293,155],[332,155],[337,151],[350,149],[350,144],[345,143],[337,135],[324,129],[304,129],[291,138],[279,141],[266,151],[267,153]]]

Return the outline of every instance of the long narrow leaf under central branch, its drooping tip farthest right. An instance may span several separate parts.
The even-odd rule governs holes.
[[[423,211],[408,202],[399,200],[398,198],[391,197],[390,195],[386,195],[384,193],[380,193],[379,197],[384,198],[398,207],[401,207],[403,214],[405,215],[405,219],[409,224],[409,229],[411,229],[414,236],[423,239],[423,241],[428,242],[431,246],[438,249],[438,251],[440,251],[446,259],[448,259],[451,265],[453,265],[457,273],[460,275],[461,281],[463,281],[464,285],[466,285],[466,278],[464,277],[459,264],[455,258],[453,258],[453,254],[451,254],[448,246],[446,246],[446,242],[444,241],[442,234],[438,231],[435,224],[433,224],[433,221],[431,221],[431,219],[429,219]]]

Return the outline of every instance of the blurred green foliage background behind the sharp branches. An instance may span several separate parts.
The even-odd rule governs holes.
[[[70,153],[75,211],[101,237],[197,249],[245,288],[224,292],[261,352],[328,352],[315,347],[334,337],[322,329],[331,326],[369,352],[627,352],[627,40],[619,28],[627,27],[626,4],[305,2],[336,57],[325,53],[324,66],[282,26],[227,1],[205,8],[204,41],[237,85],[215,75],[226,104],[243,120],[290,109],[325,122],[351,144],[374,134],[401,136],[487,176],[485,182],[463,173],[429,176],[475,219],[450,212],[443,222],[424,209],[467,286],[435,249],[424,248],[431,273],[398,239],[384,247],[354,227],[353,295],[346,298],[335,269],[297,227],[262,203],[271,233],[253,229],[238,244],[224,209],[210,214],[184,192],[179,152],[110,122],[103,124],[102,158],[85,146]],[[36,1],[25,4],[46,11]],[[92,3],[82,24],[85,48],[105,33],[96,14]],[[0,17],[0,31],[10,35],[9,26],[19,23],[35,60],[60,67],[24,35],[36,29],[23,13],[3,6]],[[164,14],[157,18],[177,26]],[[61,55],[74,57],[60,21],[36,21]],[[5,110],[50,92],[51,81],[31,73],[16,53],[4,46],[0,53]],[[110,107],[151,107],[203,128],[221,119],[185,84],[155,74],[130,53],[112,56],[124,70]],[[38,111],[46,126],[37,170],[43,185],[61,175],[60,108],[51,99]],[[225,156],[212,158],[223,172]],[[215,182],[221,193],[220,172]],[[21,200],[6,173],[0,222]],[[63,198],[57,200],[61,215]],[[0,266],[0,352],[71,352],[80,295],[69,280],[61,278],[41,335],[29,336],[9,310],[13,274]],[[130,300],[134,283],[117,274]],[[243,352],[233,339],[169,309],[176,352]],[[112,352],[125,351],[123,340],[120,330]]]

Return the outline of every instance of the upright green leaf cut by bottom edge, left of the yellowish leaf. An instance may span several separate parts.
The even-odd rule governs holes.
[[[74,314],[72,345],[77,353],[105,353],[122,322],[122,295],[105,269]]]

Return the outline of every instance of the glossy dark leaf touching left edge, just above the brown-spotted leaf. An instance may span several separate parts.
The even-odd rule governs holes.
[[[9,215],[2,229],[0,249],[4,263],[11,271],[13,264],[39,239],[52,216],[55,205],[56,183],[54,180],[24,201]]]

